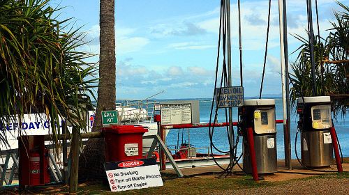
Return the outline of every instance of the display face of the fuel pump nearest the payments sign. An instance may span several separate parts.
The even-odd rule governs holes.
[[[254,130],[256,134],[268,134],[276,132],[275,108],[255,109]]]

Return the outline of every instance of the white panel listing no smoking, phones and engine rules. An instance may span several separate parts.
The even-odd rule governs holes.
[[[158,165],[105,171],[112,192],[163,186]]]

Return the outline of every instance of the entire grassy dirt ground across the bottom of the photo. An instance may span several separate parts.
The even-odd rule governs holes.
[[[345,159],[343,171],[336,173],[336,165],[325,167],[320,171],[310,171],[302,168],[297,160],[292,161],[292,170],[278,162],[279,171],[274,174],[260,175],[261,180],[254,182],[251,176],[246,176],[234,169],[232,175],[222,175],[218,166],[181,169],[184,178],[177,178],[172,169],[161,171],[163,187],[151,187],[126,191],[117,194],[349,194],[349,158]],[[330,172],[323,172],[330,171]],[[18,194],[16,187],[1,189],[0,194]],[[67,185],[53,185],[27,189],[25,194],[68,194]],[[107,185],[97,183],[82,183],[76,194],[114,194]]]

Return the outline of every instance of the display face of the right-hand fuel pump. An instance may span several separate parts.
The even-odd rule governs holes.
[[[332,126],[331,105],[311,107],[312,127],[314,129],[327,129]]]

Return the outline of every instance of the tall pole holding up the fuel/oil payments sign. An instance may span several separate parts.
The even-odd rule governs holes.
[[[226,8],[227,8],[227,39],[228,39],[228,86],[232,86],[232,49],[231,49],[231,42],[230,42],[230,0],[226,0]],[[232,152],[232,149],[234,148],[233,143],[233,131],[232,128],[232,107],[229,107],[229,139],[230,139],[230,148],[229,150]],[[230,165],[234,164],[233,156],[230,155]]]

